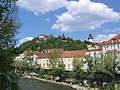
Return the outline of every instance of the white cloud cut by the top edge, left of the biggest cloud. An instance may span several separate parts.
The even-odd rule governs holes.
[[[47,13],[65,6],[65,0],[19,0],[17,4],[28,11],[39,13]]]

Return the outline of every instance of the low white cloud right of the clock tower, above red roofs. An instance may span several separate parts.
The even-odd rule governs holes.
[[[111,38],[113,38],[114,36],[116,36],[117,34],[109,34],[109,35],[105,35],[105,34],[98,34],[94,41],[95,42],[102,42],[102,41],[106,41],[109,40]]]

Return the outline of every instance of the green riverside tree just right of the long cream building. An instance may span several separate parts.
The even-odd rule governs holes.
[[[100,74],[99,71],[97,71],[97,68],[100,68],[102,66],[102,63],[98,63],[98,62],[100,62],[100,59],[99,59],[99,57],[96,57],[96,56],[92,57],[90,55],[86,55],[85,60],[88,65],[88,69],[86,71],[86,77],[89,81],[90,86],[93,87],[94,86],[93,83],[94,83],[95,79],[97,79],[97,84],[99,82],[102,82],[101,81],[102,74]],[[99,65],[99,67],[97,67],[97,65]]]

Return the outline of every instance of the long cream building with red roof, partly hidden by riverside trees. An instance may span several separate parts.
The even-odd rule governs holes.
[[[37,64],[39,64],[41,68],[50,69],[50,61],[49,61],[50,54],[51,52],[41,53],[37,57]],[[63,64],[65,65],[66,71],[72,71],[74,69],[73,60],[76,57],[83,59],[85,54],[86,54],[86,50],[60,51],[58,52],[58,57],[56,59],[62,60]]]

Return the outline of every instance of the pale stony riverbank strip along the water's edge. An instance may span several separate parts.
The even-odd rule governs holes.
[[[79,86],[77,84],[71,84],[71,83],[56,82],[54,80],[46,80],[46,79],[42,79],[42,78],[38,78],[38,77],[25,76],[25,78],[36,79],[36,80],[41,80],[44,82],[50,82],[50,83],[54,83],[54,84],[64,85],[64,86],[71,87],[75,90],[98,90],[97,88],[83,87],[83,86]]]

